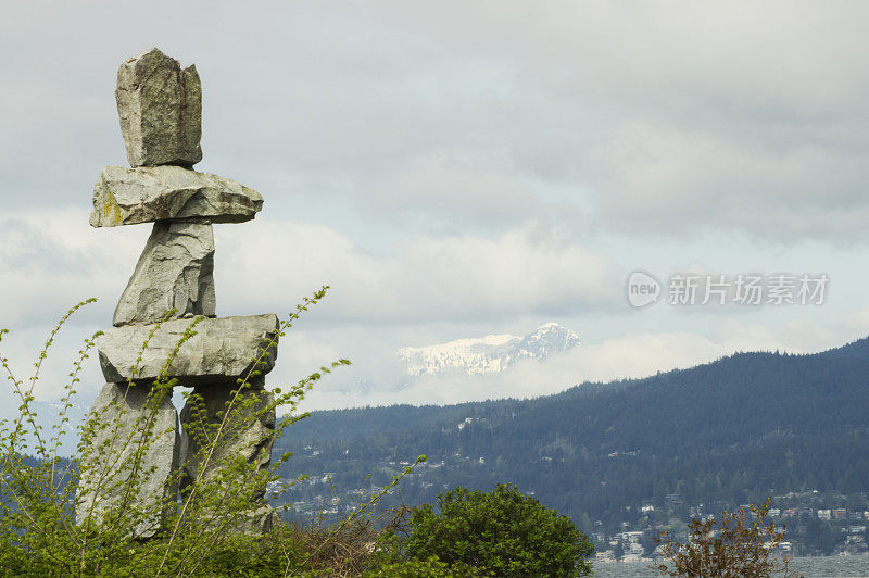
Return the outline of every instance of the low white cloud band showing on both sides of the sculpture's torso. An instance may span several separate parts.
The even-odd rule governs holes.
[[[5,327],[48,324],[87,297],[101,299],[92,315],[110,314],[150,233],[92,229],[76,210],[8,214],[0,227]],[[325,225],[287,221],[216,225],[215,236],[222,315],[289,312],[330,284],[320,315],[342,323],[492,319],[607,307],[621,282],[605,257],[536,224],[495,239],[420,237],[392,255],[368,253]]]

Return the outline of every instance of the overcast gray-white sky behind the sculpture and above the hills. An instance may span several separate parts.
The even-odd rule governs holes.
[[[0,327],[37,392],[108,327],[150,233],[88,226],[126,166],[117,66],[196,63],[198,171],[265,198],[217,225],[218,315],[285,314],[307,407],[534,395],[869,334],[869,5],[858,2],[20,2],[0,22]],[[628,275],[826,274],[822,305],[645,309]],[[582,345],[496,378],[396,382],[394,352],[546,322]],[[96,357],[96,356],[95,356]],[[91,360],[81,390],[101,387]],[[3,398],[0,397],[0,400]]]

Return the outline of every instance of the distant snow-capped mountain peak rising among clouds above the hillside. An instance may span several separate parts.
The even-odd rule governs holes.
[[[577,334],[557,323],[547,323],[525,337],[490,335],[425,348],[402,348],[399,357],[412,376],[479,375],[503,372],[522,360],[541,361],[578,344]]]

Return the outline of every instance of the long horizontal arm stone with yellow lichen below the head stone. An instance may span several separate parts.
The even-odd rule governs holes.
[[[263,198],[232,179],[180,166],[106,166],[93,187],[92,227],[164,219],[243,223],[263,209]]]

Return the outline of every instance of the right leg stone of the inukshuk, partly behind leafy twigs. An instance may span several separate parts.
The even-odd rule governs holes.
[[[219,497],[249,504],[236,519],[215,520],[247,533],[268,531],[276,517],[265,501],[264,477],[275,441],[274,397],[261,388],[261,378],[240,390],[200,386],[181,410],[182,495],[193,503]],[[203,488],[209,488],[207,495],[201,495]],[[202,505],[207,515],[221,503]]]

